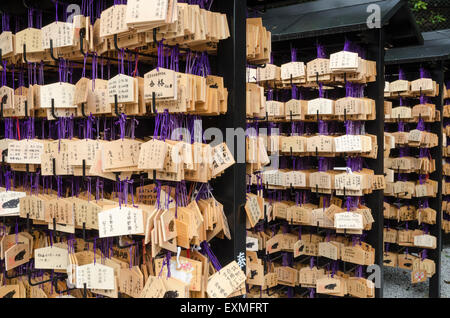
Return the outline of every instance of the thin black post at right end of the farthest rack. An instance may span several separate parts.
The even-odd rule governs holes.
[[[436,210],[436,224],[431,226],[430,234],[436,237],[436,249],[430,250],[429,258],[436,264],[436,273],[430,279],[429,297],[441,297],[441,246],[442,246],[442,145],[443,145],[443,126],[444,126],[444,65],[439,62],[432,71],[433,79],[439,84],[439,96],[435,98],[436,109],[441,112],[440,122],[432,124],[433,133],[438,135],[439,145],[431,150],[432,157],[436,161],[436,171],[432,174],[432,179],[438,182],[438,194],[435,199],[430,200],[431,208]]]

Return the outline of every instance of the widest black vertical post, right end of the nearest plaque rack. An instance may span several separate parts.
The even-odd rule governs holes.
[[[225,133],[233,130],[246,129],[246,2],[242,0],[216,1],[217,11],[226,13],[230,26],[231,37],[219,43],[217,53],[218,74],[224,77],[225,87],[229,90],[228,112],[218,125]],[[241,131],[242,131],[241,130]],[[239,139],[239,138],[237,138]],[[236,164],[227,169],[214,183],[217,198],[223,203],[225,214],[230,225],[232,239],[217,243],[214,252],[224,265],[239,257],[245,261],[246,216],[244,205],[246,200],[246,166],[245,153],[243,162],[238,148],[239,140],[227,138],[227,144],[233,152]],[[241,147],[240,147],[241,146]],[[240,149],[242,151],[242,149]],[[214,242],[212,243],[214,245]],[[245,267],[243,268],[245,271]]]

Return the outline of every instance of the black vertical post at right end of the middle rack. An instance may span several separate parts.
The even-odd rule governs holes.
[[[378,154],[376,160],[369,163],[370,169],[374,170],[376,175],[384,174],[384,29],[375,29],[375,41],[368,47],[369,60],[375,60],[377,63],[377,80],[368,85],[367,95],[374,99],[376,103],[376,120],[367,122],[367,132],[377,136]],[[375,297],[383,298],[383,200],[384,191],[374,191],[366,196],[367,206],[372,210],[375,223],[372,230],[368,233],[367,241],[375,249],[375,264],[379,266],[379,282],[375,282],[378,286],[375,289]]]

